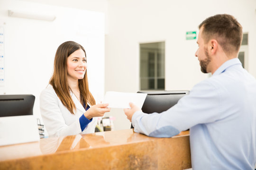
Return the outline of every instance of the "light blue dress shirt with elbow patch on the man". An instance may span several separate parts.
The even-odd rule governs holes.
[[[254,170],[256,79],[230,59],[161,114],[135,112],[135,132],[171,137],[190,128],[193,170]]]

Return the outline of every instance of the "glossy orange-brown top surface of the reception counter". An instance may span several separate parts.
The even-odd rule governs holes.
[[[187,135],[189,135],[189,131],[182,132],[178,136]],[[133,129],[97,132],[85,135],[49,137],[40,139],[39,142],[1,146],[0,161],[131,144],[155,139],[154,137],[135,133]]]

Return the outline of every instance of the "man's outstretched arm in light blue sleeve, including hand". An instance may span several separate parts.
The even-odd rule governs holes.
[[[135,132],[154,137],[171,137],[192,126],[219,119],[219,92],[208,81],[195,85],[189,95],[167,111],[146,114],[130,105],[125,114]]]

